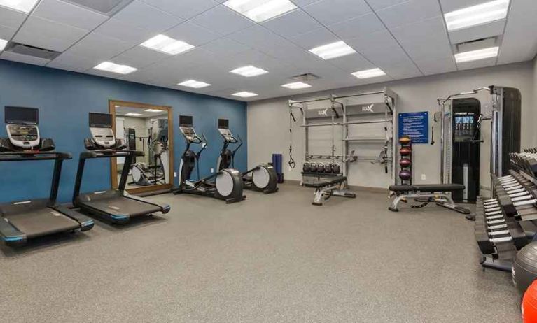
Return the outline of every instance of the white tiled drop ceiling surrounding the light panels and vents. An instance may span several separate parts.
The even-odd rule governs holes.
[[[0,59],[256,101],[523,62],[537,52],[535,0],[511,0],[506,19],[449,33],[444,13],[487,0],[291,1],[298,8],[261,23],[224,6],[225,0],[116,1],[120,5],[106,14],[74,4],[84,3],[80,0],[40,0],[30,13],[0,6],[0,39],[61,52],[51,61],[6,51]],[[195,48],[166,55],[140,46],[158,34]],[[496,37],[498,57],[456,64],[457,43],[488,37]],[[309,52],[337,41],[344,41],[356,53],[323,60]],[[119,75],[93,69],[105,61],[137,71]],[[229,72],[248,65],[268,73],[246,78]],[[358,79],[351,75],[376,68],[386,76]],[[305,73],[320,78],[309,81],[312,87],[304,89],[281,86]],[[211,86],[177,85],[185,80]],[[258,96],[232,96],[236,92]]]

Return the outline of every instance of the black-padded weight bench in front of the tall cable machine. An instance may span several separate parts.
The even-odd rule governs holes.
[[[401,201],[407,202],[409,199],[420,202],[421,204],[411,205],[411,208],[423,208],[428,203],[434,202],[438,206],[449,208],[463,214],[470,214],[470,208],[463,208],[454,203],[449,192],[460,191],[464,189],[461,184],[421,184],[421,185],[391,185],[390,197],[395,195],[396,198],[391,202],[389,210],[398,212],[398,205]]]

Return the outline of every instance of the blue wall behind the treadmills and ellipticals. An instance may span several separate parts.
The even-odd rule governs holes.
[[[179,71],[178,81],[180,78]],[[4,121],[4,106],[39,108],[41,137],[53,138],[57,151],[73,154],[72,160],[64,161],[58,195],[62,203],[71,201],[78,155],[84,150],[84,138],[90,136],[88,113],[108,113],[109,100],[172,107],[174,171],[178,170],[185,149],[179,131],[179,115],[193,115],[196,131],[200,136],[204,133],[209,141],[201,158],[202,176],[210,175],[210,168],[216,166],[223,143],[217,130],[218,118],[229,119],[230,129],[244,140],[235,157],[235,168],[246,170],[244,102],[0,60],[0,120]],[[0,136],[7,136],[6,127],[1,127]],[[0,202],[48,197],[52,172],[53,161],[0,163]],[[174,182],[177,185],[177,178]],[[109,189],[110,186],[109,159],[89,160],[82,192]]]

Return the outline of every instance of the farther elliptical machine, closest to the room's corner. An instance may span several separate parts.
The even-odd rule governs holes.
[[[218,132],[220,132],[222,138],[224,138],[224,144],[220,156],[218,156],[216,169],[221,171],[230,166],[231,168],[234,168],[235,153],[241,148],[242,139],[239,136],[233,136],[229,128],[228,119],[218,119]],[[235,143],[239,143],[237,148],[230,150],[228,146]],[[241,175],[242,182],[244,182],[244,188],[246,189],[252,189],[265,194],[278,191],[276,170],[274,169],[274,166],[270,164],[260,164],[249,171],[245,171]]]

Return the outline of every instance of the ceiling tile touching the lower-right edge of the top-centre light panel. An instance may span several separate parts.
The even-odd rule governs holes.
[[[319,22],[302,10],[294,10],[292,13],[269,20],[263,23],[263,26],[287,38],[322,27]]]

